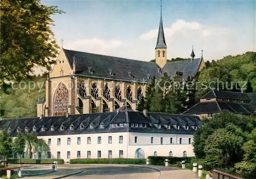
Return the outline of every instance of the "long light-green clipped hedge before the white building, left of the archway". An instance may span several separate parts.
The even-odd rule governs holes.
[[[146,164],[145,159],[71,159],[70,164]]]

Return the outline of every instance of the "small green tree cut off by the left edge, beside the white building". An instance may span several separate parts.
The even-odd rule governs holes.
[[[0,157],[8,160],[12,156],[12,138],[6,131],[0,132]]]

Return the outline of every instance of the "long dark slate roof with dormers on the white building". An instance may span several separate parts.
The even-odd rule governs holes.
[[[154,120],[154,121],[152,121]],[[60,123],[61,122],[61,123]],[[152,123],[153,122],[153,123]],[[104,128],[99,127],[104,124]],[[113,127],[112,124],[124,123],[123,127]],[[143,123],[146,127],[132,127],[131,123]],[[80,125],[83,124],[83,129]],[[90,129],[90,124],[94,124],[93,129]],[[161,129],[158,129],[155,124],[161,124]],[[188,130],[184,127],[176,129],[174,126],[167,129],[169,125],[188,125]],[[36,125],[37,131],[33,132],[32,127]],[[51,131],[51,126],[54,126],[54,131]],[[73,130],[70,125],[74,126]],[[0,129],[11,129],[10,135],[15,137],[17,127],[20,127],[21,132],[25,132],[25,127],[29,128],[29,132],[37,136],[54,136],[54,135],[72,135],[72,134],[95,134],[95,133],[118,133],[118,132],[144,132],[144,133],[175,133],[175,134],[194,134],[192,126],[200,127],[202,125],[198,116],[188,116],[179,114],[165,113],[148,113],[145,116],[142,112],[124,111],[124,112],[108,112],[108,113],[91,113],[91,114],[76,114],[70,116],[49,116],[49,117],[34,117],[34,118],[17,118],[4,119],[0,121]],[[41,131],[41,127],[45,127],[45,131]],[[60,126],[65,126],[60,130]]]

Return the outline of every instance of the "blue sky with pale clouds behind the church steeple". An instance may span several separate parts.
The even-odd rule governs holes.
[[[160,0],[41,1],[66,14],[52,16],[63,48],[135,60],[155,59]],[[256,1],[162,1],[167,59],[221,59],[256,50]]]

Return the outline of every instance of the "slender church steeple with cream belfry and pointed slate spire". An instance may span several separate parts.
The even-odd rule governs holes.
[[[161,1],[161,15],[160,24],[158,29],[157,45],[156,45],[156,63],[160,68],[163,68],[167,62],[166,52],[167,46],[165,43],[164,32],[163,32],[163,20],[162,20],[162,0]]]

